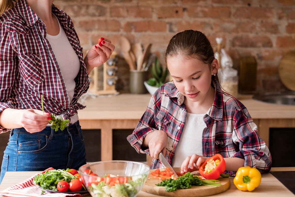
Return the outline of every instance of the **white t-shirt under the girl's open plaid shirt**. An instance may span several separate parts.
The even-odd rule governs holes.
[[[186,114],[186,120],[179,142],[172,159],[172,167],[181,167],[187,156],[202,155],[202,134],[206,124],[203,120],[205,114]]]

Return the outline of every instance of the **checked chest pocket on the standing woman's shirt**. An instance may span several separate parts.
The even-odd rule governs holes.
[[[19,72],[29,86],[35,86],[43,82],[45,76],[40,54],[19,56]]]

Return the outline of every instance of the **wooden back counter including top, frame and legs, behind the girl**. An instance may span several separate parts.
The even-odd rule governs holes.
[[[87,107],[78,110],[82,129],[101,129],[101,161],[113,159],[112,130],[134,129],[145,112],[150,94],[119,94],[112,97],[88,97]],[[252,99],[252,95],[239,95],[258,132],[268,145],[269,128],[295,127],[295,106],[276,105]],[[147,157],[150,164],[150,157]]]

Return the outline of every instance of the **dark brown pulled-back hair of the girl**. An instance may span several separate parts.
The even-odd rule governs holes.
[[[212,61],[215,59],[214,51],[208,38],[202,32],[195,30],[185,30],[171,38],[165,53],[166,64],[168,57],[177,55],[198,58],[205,64],[208,64],[210,69]],[[215,74],[215,78],[218,80],[217,73]]]

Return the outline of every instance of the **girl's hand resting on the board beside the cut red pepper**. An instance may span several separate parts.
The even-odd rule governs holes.
[[[192,156],[187,156],[186,159],[182,162],[181,173],[184,172],[194,172],[199,170],[201,164],[207,159],[198,154],[193,154]],[[190,168],[188,168],[190,166]]]

